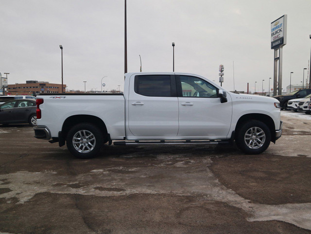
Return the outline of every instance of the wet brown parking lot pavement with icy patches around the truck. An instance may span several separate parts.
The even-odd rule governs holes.
[[[0,233],[310,234],[311,115],[281,116],[260,155],[105,145],[78,160],[27,125],[0,126]]]

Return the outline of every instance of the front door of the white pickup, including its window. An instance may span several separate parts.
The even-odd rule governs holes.
[[[179,102],[178,136],[225,139],[231,125],[232,101],[221,103],[217,88],[195,76],[176,75]]]

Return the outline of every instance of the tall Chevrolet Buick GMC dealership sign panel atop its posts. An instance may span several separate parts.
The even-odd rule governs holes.
[[[271,49],[278,49],[286,45],[287,15],[271,23]]]

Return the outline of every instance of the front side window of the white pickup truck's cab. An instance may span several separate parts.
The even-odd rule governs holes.
[[[180,76],[183,97],[217,97],[217,88],[194,76]]]

